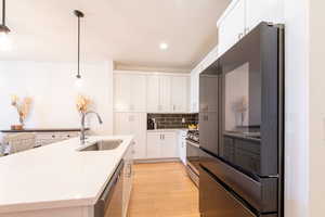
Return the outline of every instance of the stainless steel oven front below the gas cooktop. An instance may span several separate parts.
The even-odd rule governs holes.
[[[198,187],[199,182],[199,143],[186,139],[186,167],[192,181]]]

